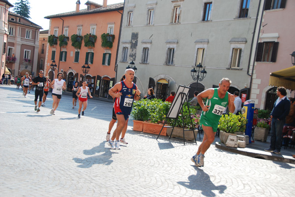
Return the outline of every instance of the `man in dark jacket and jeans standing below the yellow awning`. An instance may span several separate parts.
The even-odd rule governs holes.
[[[270,113],[271,129],[270,129],[270,147],[265,149],[267,152],[280,154],[282,146],[282,131],[286,116],[290,111],[290,100],[286,97],[287,90],[284,87],[278,87],[277,96],[279,97],[275,102]]]

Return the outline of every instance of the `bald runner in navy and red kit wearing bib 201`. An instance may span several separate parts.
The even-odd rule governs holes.
[[[126,121],[132,110],[134,100],[140,99],[140,90],[133,83],[134,70],[125,70],[126,79],[116,83],[110,90],[109,95],[115,97],[114,109],[117,117],[117,127],[113,133],[112,138],[109,140],[108,145],[112,149],[120,149],[119,137],[124,128]],[[114,142],[114,140],[116,141]]]

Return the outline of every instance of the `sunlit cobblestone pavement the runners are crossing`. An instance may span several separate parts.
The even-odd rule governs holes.
[[[105,136],[112,103],[89,100],[77,119],[71,97],[56,115],[52,98],[36,113],[33,94],[0,86],[1,197],[291,197],[295,165],[256,159],[215,148],[205,166],[190,161],[195,143],[132,130],[127,146],[110,149]],[[199,139],[199,137],[198,137]],[[219,140],[219,139],[217,139]]]

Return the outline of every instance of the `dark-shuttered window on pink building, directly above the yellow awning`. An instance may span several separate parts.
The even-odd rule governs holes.
[[[278,52],[278,42],[258,43],[256,61],[257,62],[275,62]]]

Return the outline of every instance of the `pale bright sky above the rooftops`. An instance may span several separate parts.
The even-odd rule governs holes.
[[[11,4],[14,5],[15,2],[19,0],[8,0]],[[98,4],[103,3],[103,0],[90,0]],[[30,6],[30,17],[29,19],[34,24],[42,26],[43,29],[47,30],[49,28],[49,19],[44,19],[46,16],[60,14],[64,12],[71,12],[76,10],[77,0],[29,0]],[[86,9],[87,6],[85,3],[87,0],[80,0],[80,9]],[[108,0],[108,4],[120,3],[124,0]],[[10,8],[10,11],[13,12],[13,7]]]

